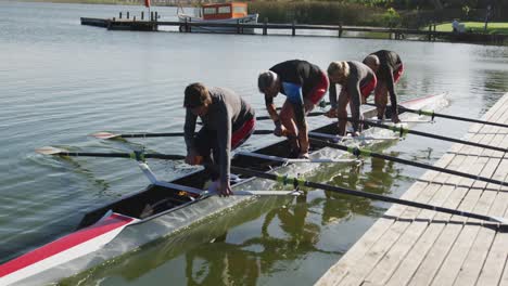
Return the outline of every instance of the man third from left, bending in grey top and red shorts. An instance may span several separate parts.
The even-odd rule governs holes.
[[[358,135],[361,131],[359,120],[363,119],[360,105],[376,88],[377,78],[374,73],[360,62],[332,62],[328,66],[328,77],[330,78],[329,96],[331,108],[326,115],[331,118],[339,118],[339,135],[343,136],[346,134],[346,107],[347,103],[350,103],[353,135]],[[339,99],[336,83],[342,86]]]

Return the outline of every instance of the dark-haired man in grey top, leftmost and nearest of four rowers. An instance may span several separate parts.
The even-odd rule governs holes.
[[[211,172],[214,187],[220,195],[232,194],[229,183],[230,152],[254,132],[254,109],[233,91],[192,83],[186,88],[183,133],[187,145],[186,162],[204,165]],[[203,122],[194,135],[198,116]]]

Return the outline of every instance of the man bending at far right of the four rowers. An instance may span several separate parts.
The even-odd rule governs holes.
[[[386,109],[388,98],[390,92],[390,103],[392,104],[392,121],[401,122],[398,119],[397,94],[395,92],[395,83],[397,83],[404,72],[404,65],[401,56],[393,52],[381,50],[367,55],[364,64],[370,67],[378,78],[378,84],[374,91],[374,103],[378,108],[378,119],[383,119]]]

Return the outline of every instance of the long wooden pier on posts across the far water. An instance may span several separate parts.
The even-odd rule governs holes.
[[[268,23],[266,20],[264,23],[257,24],[245,24],[245,23],[202,23],[202,22],[167,22],[157,21],[158,16],[152,13],[150,20],[144,20],[143,14],[141,17],[132,18],[127,14],[127,18],[122,18],[122,14],[118,18],[90,18],[81,17],[81,25],[104,27],[111,30],[143,30],[143,31],[157,31],[158,27],[176,27],[176,30],[180,32],[192,32],[194,27],[228,27],[231,28],[232,34],[244,34],[244,29],[256,29],[258,32],[254,35],[280,35],[277,31],[288,30],[291,31],[291,36],[300,36],[299,30],[326,30],[332,31],[331,35],[309,35],[305,36],[326,36],[326,37],[344,37],[344,32],[372,32],[372,34],[384,34],[385,39],[416,39],[416,40],[428,40],[435,41],[436,39],[444,39],[449,41],[465,41],[465,42],[491,42],[491,43],[504,43],[508,41],[508,35],[487,35],[487,34],[472,34],[463,32],[457,34],[452,31],[436,31],[435,26],[430,26],[429,29],[405,29],[405,28],[385,28],[385,27],[357,27],[357,26],[343,26],[343,25],[307,25],[307,24],[274,24]],[[271,30],[271,32],[270,32]],[[276,31],[277,30],[277,31]],[[334,36],[333,36],[334,35]]]

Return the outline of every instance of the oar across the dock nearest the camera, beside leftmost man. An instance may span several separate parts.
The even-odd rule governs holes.
[[[293,185],[295,187],[296,186],[308,186],[308,187],[314,187],[314,188],[321,188],[321,190],[325,190],[325,191],[341,193],[341,194],[345,194],[345,195],[359,196],[359,197],[365,197],[365,198],[370,198],[370,199],[382,200],[382,202],[386,202],[386,203],[393,203],[393,204],[398,204],[398,205],[404,205],[404,206],[410,206],[410,207],[429,209],[429,210],[434,210],[434,211],[440,211],[440,212],[446,212],[446,213],[467,217],[467,218],[473,218],[473,219],[479,219],[479,220],[484,220],[484,221],[493,221],[493,222],[498,222],[498,223],[501,223],[501,224],[508,224],[508,220],[505,219],[505,218],[484,216],[484,214],[479,214],[479,213],[473,213],[473,212],[468,212],[468,211],[460,211],[460,210],[456,210],[456,209],[444,208],[444,207],[429,205],[429,204],[422,204],[422,203],[418,203],[418,202],[414,202],[414,200],[407,200],[407,199],[402,199],[402,198],[395,198],[395,197],[390,197],[390,196],[371,194],[371,193],[367,193],[367,192],[363,192],[363,191],[355,191],[355,190],[351,190],[351,188],[339,187],[339,186],[333,186],[333,185],[328,185],[328,184],[322,184],[322,183],[315,183],[315,182],[309,182],[309,181],[306,181],[306,180],[300,179],[300,178],[290,178],[290,177],[287,177],[287,176],[266,173],[266,172],[261,172],[261,171],[255,171],[255,170],[244,169],[244,168],[239,168],[239,167],[231,167],[231,171],[233,171],[236,173],[242,173],[242,174],[245,174],[245,176],[253,176],[253,177],[256,177],[256,178],[277,181],[277,182],[280,182],[282,184]]]

